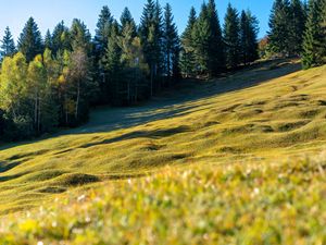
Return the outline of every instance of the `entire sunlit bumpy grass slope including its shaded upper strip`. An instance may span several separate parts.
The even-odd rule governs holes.
[[[326,244],[326,66],[300,66],[0,147],[1,244]]]

